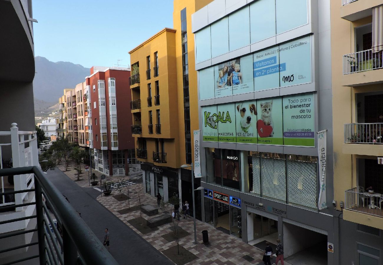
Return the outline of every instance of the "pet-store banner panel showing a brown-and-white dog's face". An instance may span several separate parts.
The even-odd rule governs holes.
[[[237,102],[235,104],[235,111],[237,142],[242,144],[256,144],[257,101]]]

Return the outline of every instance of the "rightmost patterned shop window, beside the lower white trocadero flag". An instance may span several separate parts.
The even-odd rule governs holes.
[[[287,155],[288,202],[317,208],[317,158]]]

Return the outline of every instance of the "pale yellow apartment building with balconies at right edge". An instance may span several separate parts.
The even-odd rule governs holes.
[[[334,200],[343,210],[340,231],[347,231],[340,233],[341,247],[352,253],[342,255],[342,264],[381,264],[382,258],[382,4],[331,1]]]

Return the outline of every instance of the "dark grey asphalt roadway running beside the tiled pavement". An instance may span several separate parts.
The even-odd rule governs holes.
[[[61,165],[59,166],[61,167]],[[72,170],[65,172],[68,175],[75,172],[73,165],[70,165],[70,168]],[[85,182],[88,185],[87,178],[74,182],[57,168],[48,170],[47,177],[68,198],[70,204],[81,213],[83,220],[101,242],[103,242],[105,228],[109,229],[110,253],[119,264],[172,264],[151,244],[98,203],[95,198],[100,194],[99,191],[80,187]]]

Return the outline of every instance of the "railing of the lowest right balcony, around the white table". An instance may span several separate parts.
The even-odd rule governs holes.
[[[383,217],[383,197],[378,193],[358,192],[358,188],[345,191],[345,210]]]

